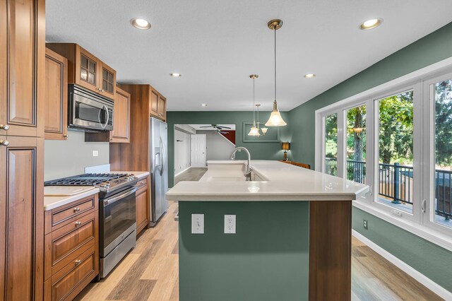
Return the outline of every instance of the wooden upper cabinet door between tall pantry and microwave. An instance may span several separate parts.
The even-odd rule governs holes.
[[[45,49],[44,137],[68,138],[68,60]]]

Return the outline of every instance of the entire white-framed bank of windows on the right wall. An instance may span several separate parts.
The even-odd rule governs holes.
[[[444,64],[317,110],[316,170],[368,184],[354,206],[452,249],[452,58]]]

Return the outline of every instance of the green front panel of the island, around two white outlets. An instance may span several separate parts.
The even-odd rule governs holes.
[[[191,234],[191,214],[204,233]],[[237,233],[224,234],[225,214]],[[179,202],[181,301],[308,300],[309,202]]]

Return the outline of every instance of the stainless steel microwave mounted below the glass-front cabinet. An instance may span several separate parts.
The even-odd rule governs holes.
[[[69,128],[85,131],[113,130],[113,100],[77,85],[69,85]]]

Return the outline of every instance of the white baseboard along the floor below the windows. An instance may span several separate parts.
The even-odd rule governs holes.
[[[435,293],[436,295],[439,295],[439,297],[442,297],[444,300],[452,300],[451,292],[446,290],[446,288],[443,288],[438,283],[432,281],[432,279],[428,278],[423,273],[420,273],[419,271],[415,270],[415,268],[412,268],[408,264],[405,264],[405,262],[401,261],[393,254],[389,253],[388,251],[386,251],[385,249],[380,247],[378,244],[375,244],[374,242],[369,240],[369,238],[365,237],[361,233],[359,233],[355,230],[352,230],[352,235],[355,236],[358,240],[361,240],[362,242],[364,242],[364,244],[367,244],[368,247],[370,247],[376,253],[383,256],[383,258],[385,258],[386,260],[391,262],[391,264],[393,264],[394,266],[397,266],[405,273],[408,273],[408,275],[410,275],[412,278],[415,278],[417,281],[422,283],[429,290],[432,290],[432,292]]]

